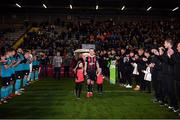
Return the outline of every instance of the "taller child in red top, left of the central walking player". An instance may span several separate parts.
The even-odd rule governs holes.
[[[83,69],[83,63],[78,62],[77,67],[74,69],[75,71],[75,94],[77,99],[80,99],[80,94],[82,90],[82,84],[84,82],[84,69]]]

